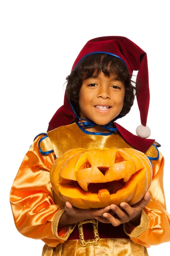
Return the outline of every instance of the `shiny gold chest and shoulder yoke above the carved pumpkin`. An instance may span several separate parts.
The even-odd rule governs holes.
[[[60,126],[53,131],[49,131],[47,134],[56,157],[59,157],[65,151],[72,148],[133,148],[117,131],[108,136],[88,134],[83,129],[81,130],[76,123]],[[45,140],[42,141],[40,147],[42,151],[45,151]],[[158,155],[153,145],[145,153],[147,156],[153,157],[157,157]]]

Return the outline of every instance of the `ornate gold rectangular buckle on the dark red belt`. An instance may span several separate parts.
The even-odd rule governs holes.
[[[94,231],[94,239],[93,240],[85,240],[84,239],[84,233],[83,233],[83,224],[92,223],[93,224],[93,231]],[[79,237],[80,237],[80,245],[82,247],[88,246],[88,245],[97,245],[100,242],[99,233],[98,233],[98,221],[96,219],[90,219],[85,221],[80,221],[78,223],[79,228]]]

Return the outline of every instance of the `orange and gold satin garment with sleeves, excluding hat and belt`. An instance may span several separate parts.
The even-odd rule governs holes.
[[[76,224],[57,228],[65,209],[51,187],[51,165],[55,156],[59,157],[71,148],[92,147],[132,148],[118,132],[94,135],[85,133],[76,123],[60,126],[47,136],[36,137],[11,188],[10,201],[17,230],[24,236],[42,239],[45,242],[43,256],[147,256],[146,247],[170,241],[170,215],[166,212],[163,189],[164,158],[154,145],[145,152],[155,159],[151,160],[151,200],[142,210],[138,227],[124,224],[124,231],[130,239],[104,238],[98,245],[81,247],[78,239],[67,240]]]

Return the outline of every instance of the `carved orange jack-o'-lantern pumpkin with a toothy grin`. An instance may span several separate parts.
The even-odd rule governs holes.
[[[55,160],[50,178],[57,196],[80,209],[132,205],[149,189],[152,166],[132,148],[77,148]]]

